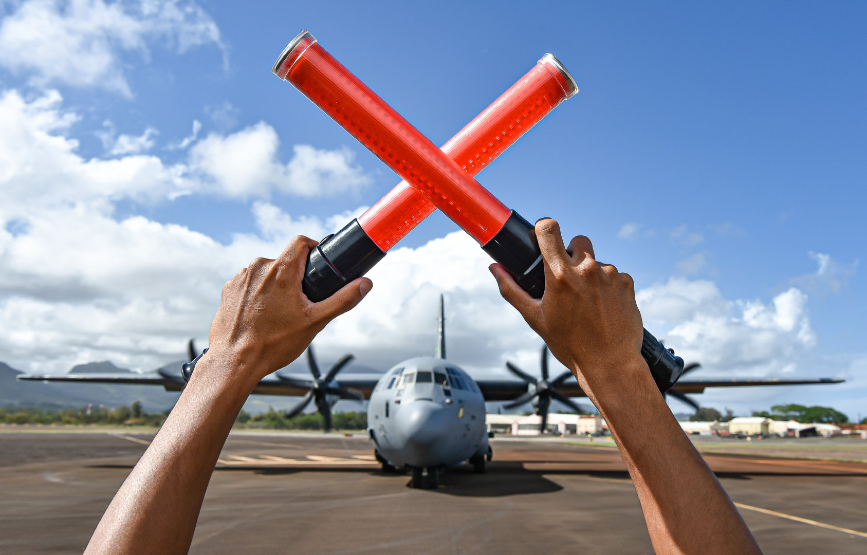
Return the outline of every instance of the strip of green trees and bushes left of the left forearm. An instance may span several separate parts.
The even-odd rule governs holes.
[[[124,426],[159,427],[166,420],[168,411],[150,415],[136,401],[129,407],[118,408],[15,408],[0,409],[0,423],[5,424],[113,424]]]

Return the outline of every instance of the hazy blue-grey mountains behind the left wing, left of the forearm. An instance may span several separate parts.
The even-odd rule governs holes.
[[[114,364],[108,364],[114,368]],[[75,367],[77,368],[80,367]],[[123,369],[111,371],[121,374],[129,372]],[[178,393],[168,392],[161,387],[110,383],[18,382],[16,375],[19,374],[21,372],[18,370],[0,362],[0,407],[82,408],[89,404],[128,407],[132,402],[140,401],[147,412],[158,413],[172,408],[178,400]]]

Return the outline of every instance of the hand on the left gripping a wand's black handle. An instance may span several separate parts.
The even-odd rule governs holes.
[[[197,364],[193,376],[202,374],[200,366],[210,371],[216,365],[208,362],[227,358],[231,364],[220,366],[231,368],[231,379],[252,389],[300,356],[331,320],[361,302],[373,287],[368,278],[355,279],[321,303],[311,303],[303,294],[307,255],[316,245],[299,235],[276,260],[256,258],[226,282],[202,357],[205,364]]]

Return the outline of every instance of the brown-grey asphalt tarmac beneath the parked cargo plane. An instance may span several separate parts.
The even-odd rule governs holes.
[[[0,552],[82,552],[152,437],[0,433]],[[423,491],[381,473],[363,437],[233,433],[191,552],[653,552],[615,449],[517,439],[493,448],[488,473],[460,468]],[[765,553],[867,553],[867,464],[706,459]]]

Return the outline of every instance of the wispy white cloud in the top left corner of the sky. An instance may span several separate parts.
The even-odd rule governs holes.
[[[217,24],[197,3],[179,0],[27,0],[0,24],[0,64],[36,85],[107,88],[130,96],[122,51],[147,56],[148,42],[186,52],[215,44]]]

